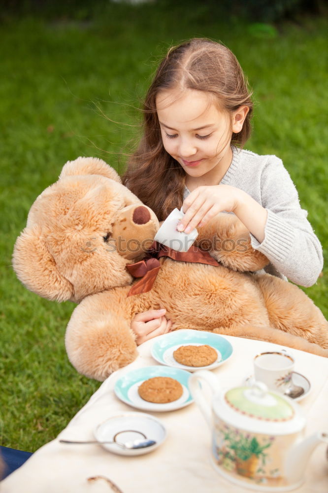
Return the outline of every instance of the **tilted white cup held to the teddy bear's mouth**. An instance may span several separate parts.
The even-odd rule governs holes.
[[[190,233],[178,231],[177,225],[183,218],[184,213],[174,209],[165,219],[164,223],[155,235],[155,241],[176,251],[188,251],[198,236],[197,229]]]

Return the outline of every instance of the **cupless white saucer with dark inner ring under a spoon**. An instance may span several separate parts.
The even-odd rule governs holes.
[[[124,449],[115,443],[100,444],[104,449],[120,456],[139,456],[148,454],[159,447],[166,438],[166,429],[160,420],[150,414],[119,413],[98,424],[94,430],[94,435],[99,442],[115,441],[116,439],[116,441],[125,443],[143,438],[156,442],[154,445],[142,449]]]

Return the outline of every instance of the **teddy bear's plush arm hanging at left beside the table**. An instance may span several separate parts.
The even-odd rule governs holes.
[[[70,362],[79,373],[100,381],[138,354],[124,305],[116,298],[112,291],[88,296],[75,308],[66,329]]]

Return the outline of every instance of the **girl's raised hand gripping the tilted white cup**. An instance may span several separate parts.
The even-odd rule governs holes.
[[[233,212],[243,193],[230,185],[199,186],[184,200],[185,215],[177,229],[188,234],[197,226],[205,226],[219,212]]]

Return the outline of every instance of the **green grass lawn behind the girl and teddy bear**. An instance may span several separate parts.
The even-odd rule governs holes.
[[[283,159],[327,257],[327,20],[304,19],[265,34],[199,3],[188,11],[109,4],[87,21],[7,17],[0,24],[2,445],[36,450],[99,385],[66,357],[73,304],[43,300],[16,279],[15,239],[34,199],[67,160],[93,155],[122,171],[139,132],[135,108],[169,45],[206,36],[234,51],[256,100],[246,148]],[[327,270],[305,290],[326,317],[327,290]]]

